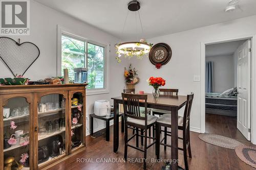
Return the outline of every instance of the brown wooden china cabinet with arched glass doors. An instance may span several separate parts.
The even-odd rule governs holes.
[[[83,151],[86,85],[0,86],[0,169],[47,169]]]

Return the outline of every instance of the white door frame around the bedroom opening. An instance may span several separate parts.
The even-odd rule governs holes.
[[[201,133],[205,133],[205,45],[251,39],[251,142],[256,144],[256,106],[253,106],[252,103],[256,103],[256,35],[247,35],[242,37],[233,37],[226,39],[218,39],[212,41],[201,41]],[[254,79],[253,79],[254,78]],[[253,114],[254,113],[254,114]],[[254,124],[253,124],[254,122]]]

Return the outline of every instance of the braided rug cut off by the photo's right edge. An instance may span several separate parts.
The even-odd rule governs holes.
[[[236,154],[244,163],[256,168],[256,148],[241,145],[236,147]]]

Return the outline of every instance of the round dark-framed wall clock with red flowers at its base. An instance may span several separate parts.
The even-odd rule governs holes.
[[[162,65],[169,62],[172,57],[172,49],[166,43],[157,43],[151,48],[148,57],[150,62],[159,69]]]

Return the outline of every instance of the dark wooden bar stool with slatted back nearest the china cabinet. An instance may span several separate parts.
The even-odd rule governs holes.
[[[156,120],[158,117],[140,113],[139,102],[140,100],[144,101],[144,109],[147,110],[147,95],[146,94],[129,94],[122,93],[123,99],[123,108],[124,108],[124,160],[127,160],[127,147],[134,148],[138,151],[144,153],[143,160],[143,168],[146,168],[146,154],[147,149],[155,144],[156,140],[153,137],[147,136],[147,130],[156,124]],[[136,128],[136,133],[128,138],[128,128],[133,129]],[[139,135],[137,128],[141,129],[141,131],[145,131],[145,135]],[[136,147],[134,145],[129,144],[129,141],[136,136]],[[137,136],[144,137],[144,149],[138,148],[138,138]],[[153,139],[153,142],[147,145],[147,138]]]

